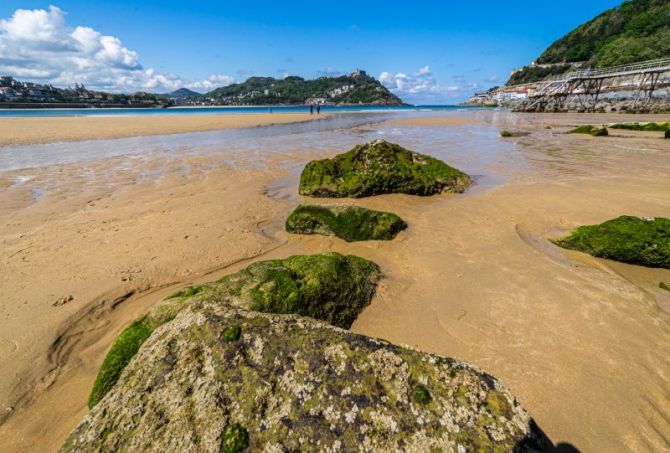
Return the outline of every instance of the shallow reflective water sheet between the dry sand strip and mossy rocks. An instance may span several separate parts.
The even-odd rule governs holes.
[[[472,111],[444,113],[459,117]],[[167,174],[189,175],[187,162],[200,171],[218,165],[263,167],[279,155],[334,154],[359,143],[385,139],[433,155],[473,175],[471,193],[502,184],[527,169],[512,141],[501,141],[490,112],[474,112],[485,121],[442,128],[394,127],[387,120],[421,118],[435,112],[339,113],[322,121],[113,140],[6,146],[0,148],[0,180],[9,186],[0,206],[15,190],[32,190],[33,201],[56,190],[87,186],[114,189]],[[203,162],[202,160],[206,160]],[[74,179],[74,180],[73,180]],[[77,189],[79,188],[79,189]],[[4,202],[3,202],[4,200]]]

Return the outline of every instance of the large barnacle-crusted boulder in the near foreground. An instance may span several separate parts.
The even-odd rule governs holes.
[[[510,391],[470,365],[202,294],[154,331],[61,451],[549,447]],[[223,340],[230,325],[236,342]],[[417,401],[418,386],[430,398]]]

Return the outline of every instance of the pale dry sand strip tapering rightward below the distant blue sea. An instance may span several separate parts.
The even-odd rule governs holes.
[[[314,118],[307,113],[0,118],[0,146],[202,132]]]

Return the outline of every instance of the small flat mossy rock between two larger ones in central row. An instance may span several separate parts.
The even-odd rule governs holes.
[[[347,242],[391,240],[405,228],[395,214],[358,206],[300,205],[286,219],[289,233],[337,236]]]

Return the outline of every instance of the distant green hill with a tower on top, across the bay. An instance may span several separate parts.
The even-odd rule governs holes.
[[[364,71],[314,80],[296,76],[284,79],[251,77],[244,83],[217,88],[203,97],[223,105],[305,103],[401,105],[403,103],[377,79],[370,77]]]

